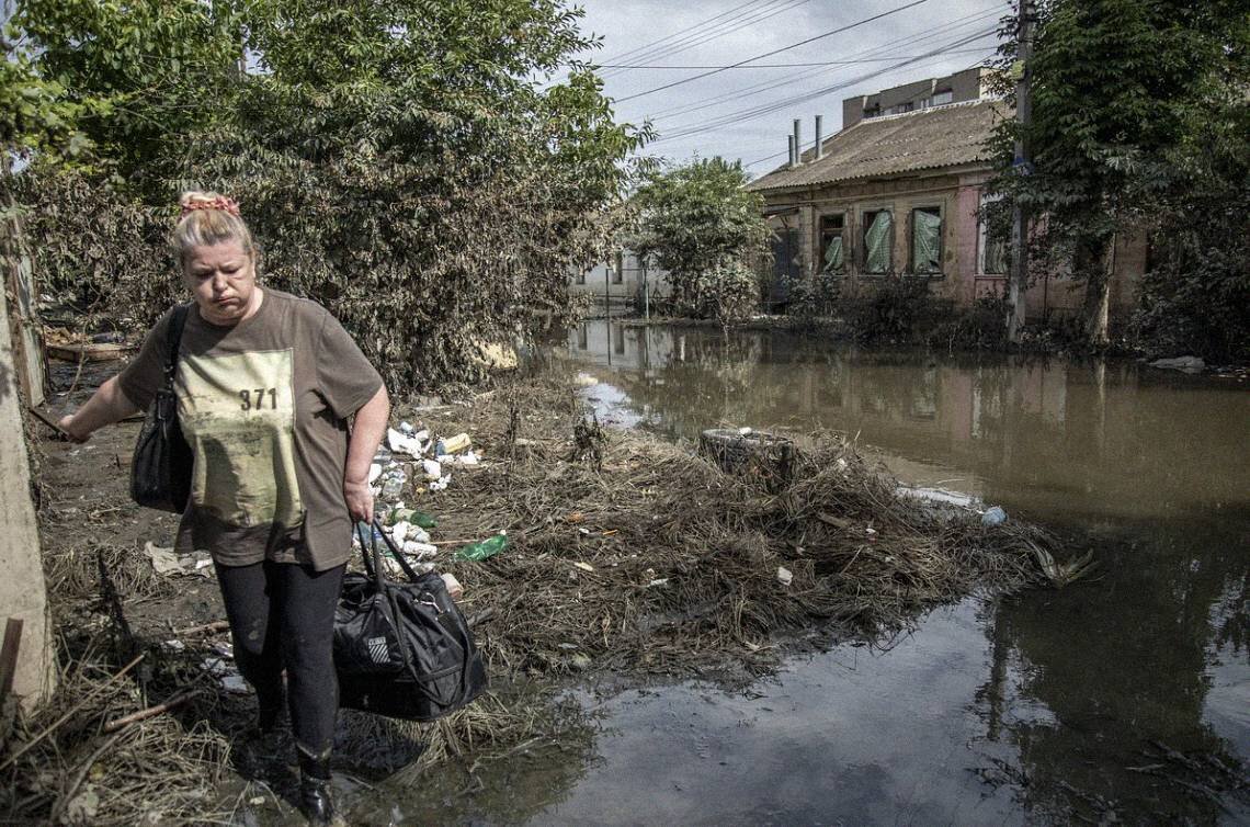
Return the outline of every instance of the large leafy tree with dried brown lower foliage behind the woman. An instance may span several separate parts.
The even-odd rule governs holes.
[[[48,1],[28,4],[58,25],[28,19],[31,31],[84,20],[98,31],[89,10],[66,21]],[[648,135],[618,124],[599,79],[570,64],[592,45],[580,11],[558,0],[254,0],[202,16],[199,0],[179,4],[179,26],[208,40],[191,65],[205,74],[160,86],[152,140],[122,148],[110,136],[129,124],[99,125],[132,175],[121,194],[165,210],[182,188],[236,196],[265,283],[332,307],[395,389],[474,380],[484,343],[524,339],[534,312],[569,309],[566,274],[606,248],[625,159]],[[160,15],[119,8],[166,64],[190,59]],[[258,69],[246,75],[230,74],[238,31]],[[100,38],[130,54],[131,39]],[[125,85],[70,58],[42,64],[68,89]],[[562,68],[562,83],[538,81]],[[175,284],[171,269],[160,289],[124,280],[114,294],[131,307],[149,298],[151,315]]]

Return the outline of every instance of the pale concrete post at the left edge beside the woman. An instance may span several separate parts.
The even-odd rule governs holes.
[[[21,621],[12,691],[22,706],[32,708],[51,693],[56,663],[11,342],[9,300],[0,290],[0,479],[5,480],[0,487],[0,622]]]

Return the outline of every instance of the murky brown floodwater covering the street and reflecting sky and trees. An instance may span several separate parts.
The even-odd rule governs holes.
[[[846,432],[904,482],[1079,532],[1099,569],[939,608],[888,646],[791,658],[746,692],[588,693],[604,716],[589,744],[482,768],[498,783],[426,817],[1250,822],[1242,380],[606,322],[572,330],[566,353],[620,427]]]

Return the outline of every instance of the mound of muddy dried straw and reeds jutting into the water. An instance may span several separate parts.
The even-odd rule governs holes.
[[[465,584],[496,673],[669,674],[731,662],[758,673],[788,632],[820,624],[879,641],[974,589],[1041,583],[1039,552],[1058,556],[1038,528],[985,527],[972,512],[900,498],[836,434],[726,473],[689,445],[599,429],[555,379],[425,424],[472,433],[488,458],[416,507],[440,518],[440,537],[508,532],[510,547],[489,561],[440,562]],[[525,452],[510,448],[519,435]]]

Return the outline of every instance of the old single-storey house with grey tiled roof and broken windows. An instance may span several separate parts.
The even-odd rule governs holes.
[[[969,69],[842,101],[842,128],[802,149],[799,121],[786,164],[751,181],[774,230],[774,304],[786,285],[829,274],[841,294],[884,279],[925,279],[929,292],[969,305],[1006,289],[1006,244],[979,220],[992,175],[988,140],[1012,114],[988,94],[989,71]],[[1112,305],[1132,300],[1145,266],[1140,238],[1118,243]],[[1028,313],[1072,313],[1081,295],[1060,275],[1036,280]]]

